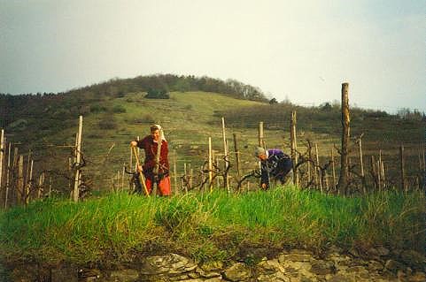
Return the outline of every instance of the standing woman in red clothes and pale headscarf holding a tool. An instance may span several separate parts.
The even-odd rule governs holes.
[[[159,142],[161,142],[161,148],[158,158]],[[152,193],[153,184],[157,183],[158,193],[160,195],[170,195],[171,189],[170,176],[168,174],[168,171],[170,171],[170,166],[168,164],[168,147],[161,126],[151,126],[150,135],[145,136],[140,141],[131,141],[130,145],[133,147],[137,146],[145,151],[143,166],[139,166],[138,171],[143,171],[148,193]]]

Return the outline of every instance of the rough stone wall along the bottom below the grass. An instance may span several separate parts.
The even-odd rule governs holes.
[[[239,261],[194,263],[182,255],[151,255],[132,267],[97,270],[78,267],[17,267],[3,281],[426,281],[425,257],[412,250],[356,250],[331,247],[321,255],[303,249],[261,257],[262,250],[247,253]],[[0,281],[2,281],[0,279]]]

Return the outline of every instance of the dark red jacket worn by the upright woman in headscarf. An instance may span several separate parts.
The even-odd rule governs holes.
[[[144,149],[145,161],[143,162],[143,172],[152,173],[155,167],[155,156],[157,156],[158,143],[155,142],[151,135],[137,141],[137,147]],[[161,141],[161,151],[159,154],[159,173],[167,173],[170,170],[168,164],[168,146],[167,141]]]

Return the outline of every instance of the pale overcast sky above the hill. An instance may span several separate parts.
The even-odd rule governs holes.
[[[425,45],[424,0],[0,0],[0,93],[174,73],[426,111]]]

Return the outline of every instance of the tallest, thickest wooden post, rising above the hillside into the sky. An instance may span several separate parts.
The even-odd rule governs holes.
[[[340,156],[340,176],[337,188],[343,194],[348,185],[348,144],[350,136],[349,127],[349,83],[342,83],[342,155]]]

